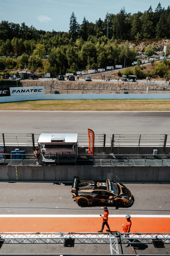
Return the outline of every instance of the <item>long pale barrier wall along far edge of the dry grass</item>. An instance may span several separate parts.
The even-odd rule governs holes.
[[[0,97],[0,103],[28,100],[67,99],[170,99],[170,94],[33,94]]]

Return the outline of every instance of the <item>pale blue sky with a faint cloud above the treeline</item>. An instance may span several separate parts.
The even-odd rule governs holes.
[[[169,0],[160,1],[162,7],[170,5]],[[46,31],[69,30],[70,16],[74,11],[78,23],[85,16],[89,22],[99,17],[104,20],[106,13],[119,13],[121,7],[126,12],[145,11],[152,6],[154,10],[159,0],[0,0],[0,21],[33,25],[36,29]]]

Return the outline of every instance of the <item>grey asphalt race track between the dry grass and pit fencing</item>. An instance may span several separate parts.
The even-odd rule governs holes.
[[[0,111],[0,120],[0,133],[87,133],[91,128],[106,133],[109,143],[112,133],[168,134],[170,112]]]

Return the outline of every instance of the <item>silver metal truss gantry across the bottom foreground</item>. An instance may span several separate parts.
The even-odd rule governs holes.
[[[170,244],[170,233],[0,233],[4,244],[64,244],[64,239],[75,239],[75,244],[108,244],[111,255],[122,255],[122,244],[153,244],[161,239]],[[119,247],[120,245],[120,247]],[[153,254],[154,255],[154,254]]]

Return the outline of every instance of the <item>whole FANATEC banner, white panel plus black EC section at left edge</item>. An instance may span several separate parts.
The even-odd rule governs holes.
[[[0,89],[0,96],[18,96],[30,94],[45,94],[44,86],[10,87]]]

